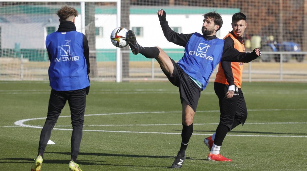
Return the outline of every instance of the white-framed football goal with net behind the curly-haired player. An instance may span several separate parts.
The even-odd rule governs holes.
[[[56,12],[65,5],[78,10],[76,31],[88,39],[90,77],[115,80],[117,49],[110,42],[110,30],[120,25],[118,2],[0,1],[0,80],[49,80],[45,40],[58,29]]]

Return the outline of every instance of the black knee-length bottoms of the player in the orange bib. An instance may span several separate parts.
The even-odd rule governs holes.
[[[220,124],[231,129],[233,121],[239,121],[242,125],[247,118],[247,107],[241,88],[235,86],[235,93],[232,98],[225,97],[229,85],[214,83],[214,91],[220,103]]]

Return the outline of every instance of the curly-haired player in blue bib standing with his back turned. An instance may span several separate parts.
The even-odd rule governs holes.
[[[75,20],[78,11],[64,6],[57,11],[57,15],[60,18],[59,28],[46,37],[51,93],[47,119],[41,130],[38,154],[31,171],[41,170],[51,131],[66,101],[72,120],[71,159],[68,169],[82,171],[76,161],[82,139],[86,95],[90,87],[89,47],[86,36],[76,32]]]

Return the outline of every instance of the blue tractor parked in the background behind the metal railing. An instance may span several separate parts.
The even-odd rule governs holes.
[[[301,46],[295,42],[282,42],[277,43],[274,41],[273,36],[269,36],[266,38],[266,42],[262,43],[261,51],[269,51],[269,52],[300,52]],[[302,62],[304,60],[304,54],[283,54],[282,61],[288,62],[291,58],[296,59],[298,62]],[[261,60],[264,62],[269,62],[271,59],[274,61],[280,61],[280,54],[263,54],[261,55]]]

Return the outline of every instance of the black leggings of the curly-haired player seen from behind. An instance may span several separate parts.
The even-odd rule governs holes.
[[[55,91],[51,89],[47,119],[43,129],[41,130],[38,147],[38,154],[41,154],[41,156],[44,154],[48,140],[51,136],[51,131],[56,124],[66,101],[68,101],[69,104],[72,121],[71,156],[77,157],[79,154],[84,122],[86,90],[85,88],[73,91]]]

